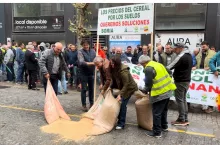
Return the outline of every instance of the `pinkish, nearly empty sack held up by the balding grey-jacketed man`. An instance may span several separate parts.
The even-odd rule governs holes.
[[[49,79],[47,81],[44,115],[48,124],[51,124],[60,117],[66,120],[70,120],[70,117],[63,110],[63,107],[61,106],[58,98],[56,97],[56,94],[53,90],[53,87]]]

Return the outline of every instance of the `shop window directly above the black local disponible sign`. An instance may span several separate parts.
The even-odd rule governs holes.
[[[13,4],[14,17],[63,16],[64,4],[17,3]]]

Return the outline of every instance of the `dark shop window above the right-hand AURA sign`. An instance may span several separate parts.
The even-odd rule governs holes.
[[[155,4],[155,29],[205,29],[207,4]]]

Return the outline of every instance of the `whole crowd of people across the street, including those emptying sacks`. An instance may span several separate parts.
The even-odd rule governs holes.
[[[6,81],[17,84],[28,83],[28,89],[39,90],[36,83],[40,81],[46,92],[47,80],[57,95],[67,94],[67,84],[75,85],[81,91],[82,110],[88,111],[94,103],[94,73],[98,69],[98,84],[101,94],[106,90],[119,89],[115,98],[121,102],[116,129],[123,129],[126,122],[127,103],[135,91],[140,89],[150,95],[153,112],[153,131],[148,136],[161,137],[167,131],[167,111],[170,97],[174,96],[178,105],[178,118],[172,125],[189,125],[186,93],[191,81],[191,71],[195,69],[211,70],[218,77],[217,67],[220,66],[220,52],[208,42],[201,43],[201,49],[195,48],[193,53],[182,42],[174,45],[167,43],[165,48],[157,44],[155,52],[152,46],[137,45],[135,49],[128,46],[122,48],[91,46],[88,41],[81,42],[82,48],[68,44],[66,48],[60,42],[55,44],[29,42],[13,43],[12,46],[2,45],[0,51],[1,71],[7,74]],[[151,59],[152,58],[152,59]],[[123,62],[142,65],[145,73],[145,87],[138,88],[132,78],[129,67]],[[173,73],[171,70],[174,70]],[[24,75],[25,74],[25,75]],[[174,78],[174,82],[172,80]],[[88,94],[87,94],[88,92]],[[89,108],[86,98],[89,98]],[[203,106],[206,113],[213,107]]]

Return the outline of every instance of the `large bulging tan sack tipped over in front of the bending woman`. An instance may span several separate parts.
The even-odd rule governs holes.
[[[107,90],[101,110],[94,119],[93,129],[88,135],[100,135],[110,132],[115,126],[119,111],[119,102],[113,97],[111,90]]]

